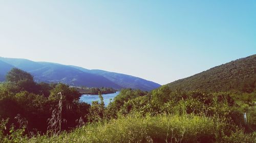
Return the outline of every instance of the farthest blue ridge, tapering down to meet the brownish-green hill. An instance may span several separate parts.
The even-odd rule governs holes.
[[[143,91],[150,91],[152,89],[156,89],[160,87],[160,84],[148,81],[139,77],[121,74],[121,73],[115,73],[115,72],[108,72],[103,70],[88,70],[81,67],[71,66],[76,69],[79,69],[84,72],[89,72],[97,75],[101,75],[107,79],[109,79],[112,82],[115,82],[116,84],[120,85],[123,88],[131,88],[131,89],[140,89]]]

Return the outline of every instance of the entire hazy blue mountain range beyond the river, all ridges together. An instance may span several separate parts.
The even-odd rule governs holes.
[[[7,72],[14,67],[31,73],[36,82],[62,82],[75,86],[131,88],[143,91],[150,91],[161,86],[158,83],[131,75],[2,57],[0,57],[0,81],[4,81]]]

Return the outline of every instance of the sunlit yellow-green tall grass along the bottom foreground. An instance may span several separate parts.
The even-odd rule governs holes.
[[[195,115],[138,114],[109,122],[97,122],[59,135],[38,135],[20,142],[255,142],[256,134],[244,134],[218,119]]]

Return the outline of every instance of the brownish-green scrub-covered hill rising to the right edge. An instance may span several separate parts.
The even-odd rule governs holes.
[[[256,54],[167,84],[173,90],[256,90]]]

